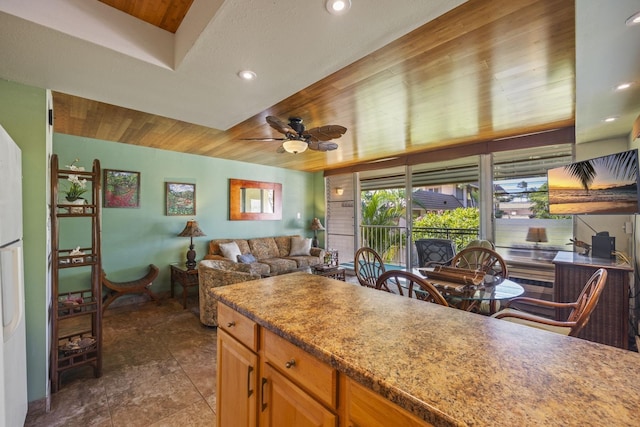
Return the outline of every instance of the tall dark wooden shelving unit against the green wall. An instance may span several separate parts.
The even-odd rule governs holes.
[[[64,199],[70,175],[86,180],[86,203]],[[100,252],[100,162],[90,171],[60,169],[51,157],[51,389],[62,374],[91,366],[102,375],[102,295]],[[73,242],[73,243],[72,243]]]

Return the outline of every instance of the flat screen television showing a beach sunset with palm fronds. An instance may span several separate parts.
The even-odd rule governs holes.
[[[547,171],[553,215],[634,214],[638,209],[638,150]]]

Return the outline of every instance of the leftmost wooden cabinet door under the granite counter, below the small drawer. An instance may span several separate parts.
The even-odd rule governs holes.
[[[218,328],[218,427],[256,426],[258,356]]]

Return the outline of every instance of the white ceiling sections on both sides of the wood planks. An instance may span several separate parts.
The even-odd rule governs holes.
[[[0,0],[0,77],[226,130],[464,3],[352,1],[333,16],[324,0],[195,0],[174,35],[98,1]],[[624,24],[639,10],[576,0],[578,142],[640,115],[640,26]]]

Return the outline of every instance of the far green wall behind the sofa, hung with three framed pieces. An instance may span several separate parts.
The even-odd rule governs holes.
[[[189,239],[177,234],[193,218],[165,215],[165,182],[196,185],[195,219],[207,235],[194,238],[197,260],[206,254],[211,239],[282,234],[310,237],[311,219],[323,213],[318,211],[315,196],[319,185],[318,193],[324,194],[322,174],[63,134],[54,135],[53,151],[61,166],[79,158],[78,165],[89,169],[96,158],[102,169],[140,172],[140,207],[102,210],[102,267],[110,278],[123,281],[142,276],[149,264],[156,264],[160,276],[152,286],[154,292],[170,289],[169,264],[186,261]],[[282,220],[229,221],[229,178],[282,183]]]

